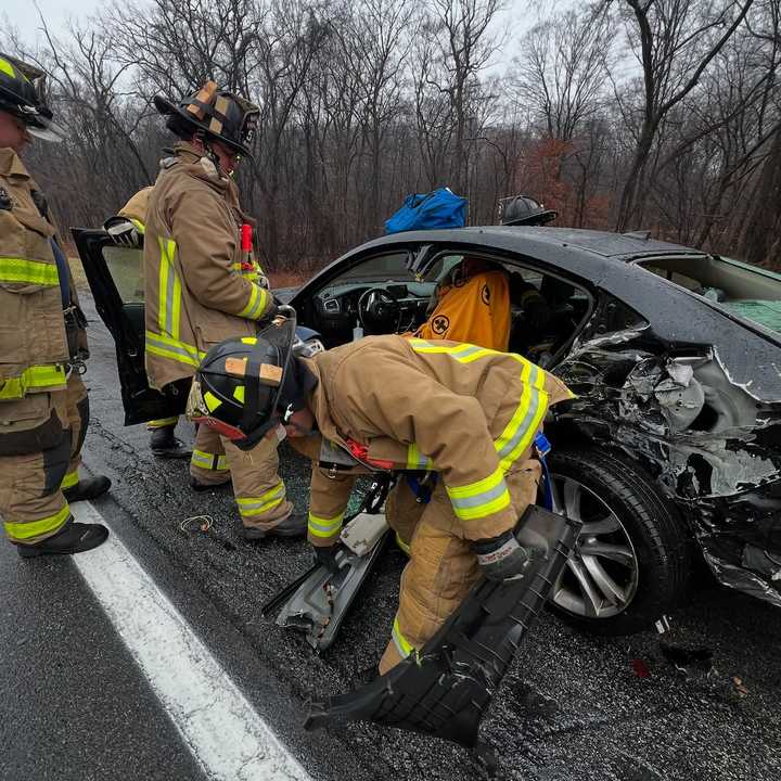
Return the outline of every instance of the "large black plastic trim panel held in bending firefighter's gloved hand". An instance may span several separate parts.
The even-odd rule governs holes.
[[[518,524],[541,551],[520,580],[482,580],[417,656],[366,687],[312,703],[306,729],[367,720],[478,747],[483,716],[573,550],[580,524],[533,507]]]

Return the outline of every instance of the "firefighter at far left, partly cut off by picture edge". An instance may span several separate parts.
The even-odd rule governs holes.
[[[0,54],[0,516],[23,558],[101,545],[108,530],[75,523],[68,502],[111,486],[78,474],[89,422],[79,377],[86,319],[46,200],[18,157],[33,136],[61,138],[43,78]]]

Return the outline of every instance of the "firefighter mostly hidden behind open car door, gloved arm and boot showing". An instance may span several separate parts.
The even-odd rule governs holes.
[[[106,232],[119,246],[131,249],[143,249],[143,236],[146,226],[146,204],[152,192],[151,187],[139,190],[114,217],[104,223]],[[141,264],[140,279],[143,279],[143,261]],[[139,291],[143,296],[143,290]],[[190,458],[192,450],[176,436],[179,415],[162,418],[146,422],[146,430],[151,433],[150,449],[157,458]]]

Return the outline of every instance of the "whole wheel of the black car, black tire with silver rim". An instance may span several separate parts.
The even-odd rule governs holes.
[[[559,507],[584,527],[554,585],[551,607],[598,635],[631,635],[681,598],[689,534],[677,509],[629,459],[596,448],[554,450]]]

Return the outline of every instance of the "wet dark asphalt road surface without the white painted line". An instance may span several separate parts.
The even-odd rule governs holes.
[[[95,503],[256,710],[313,779],[479,774],[463,750],[370,725],[307,733],[307,701],[350,688],[387,642],[400,552],[371,575],[322,657],[260,616],[310,564],[302,541],[248,543],[226,490],[195,494],[183,461],[158,461],[123,426],[114,345],[91,302],[86,375],[88,470],[114,482]],[[191,438],[185,423],[179,434]],[[289,495],[306,507],[308,470],[283,448]],[[187,518],[208,514],[209,532]],[[89,554],[85,554],[89,555]],[[203,778],[73,563],[0,552],[0,779]],[[781,778],[781,612],[705,573],[664,640],[708,649],[709,671],[677,669],[660,636],[594,638],[546,614],[484,721],[500,778],[564,781],[777,781]]]

